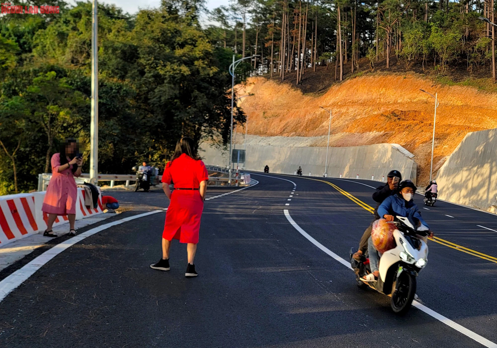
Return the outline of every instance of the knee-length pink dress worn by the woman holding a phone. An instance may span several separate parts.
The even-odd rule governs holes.
[[[48,183],[41,210],[48,214],[76,214],[78,188],[71,171],[73,166],[59,173],[60,153],[54,154],[50,162],[52,163],[52,178]]]

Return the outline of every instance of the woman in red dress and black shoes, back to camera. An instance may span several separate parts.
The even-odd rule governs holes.
[[[176,143],[171,161],[166,164],[162,188],[170,203],[162,234],[162,259],[150,265],[154,269],[169,270],[171,240],[178,239],[179,243],[187,243],[188,265],[185,277],[197,276],[193,259],[197,251],[200,218],[209,179],[204,163],[199,160],[193,149],[192,139],[181,138]],[[172,193],[169,189],[171,183],[174,184]]]

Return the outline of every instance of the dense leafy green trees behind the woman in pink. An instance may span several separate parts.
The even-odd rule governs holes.
[[[36,188],[66,137],[89,150],[91,3],[48,4],[60,14],[0,19],[0,194]],[[198,5],[163,1],[134,16],[99,5],[100,172],[163,167],[181,136],[228,141],[232,50],[211,43]]]

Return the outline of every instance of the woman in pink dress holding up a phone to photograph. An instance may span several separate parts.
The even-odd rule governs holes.
[[[60,152],[52,156],[52,178],[48,183],[47,193],[41,210],[48,214],[46,237],[57,237],[52,233],[52,225],[57,215],[67,215],[69,219],[69,234],[76,236],[74,221],[76,220],[76,201],[78,188],[75,176],[81,175],[83,158],[78,151],[78,142],[67,139],[62,143]]]

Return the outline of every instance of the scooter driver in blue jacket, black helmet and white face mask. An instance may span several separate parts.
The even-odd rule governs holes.
[[[399,185],[399,190],[396,194],[387,197],[383,203],[378,207],[378,215],[387,221],[394,221],[395,216],[408,217],[412,215],[419,223],[429,229],[428,224],[423,220],[419,209],[413,201],[414,192],[416,192],[416,185],[411,180],[404,180]],[[411,214],[410,214],[411,212]],[[430,237],[433,233],[430,232]],[[369,266],[371,273],[361,278],[364,281],[376,281],[379,272],[379,263],[381,255],[375,249],[371,237],[368,239],[368,255]]]

